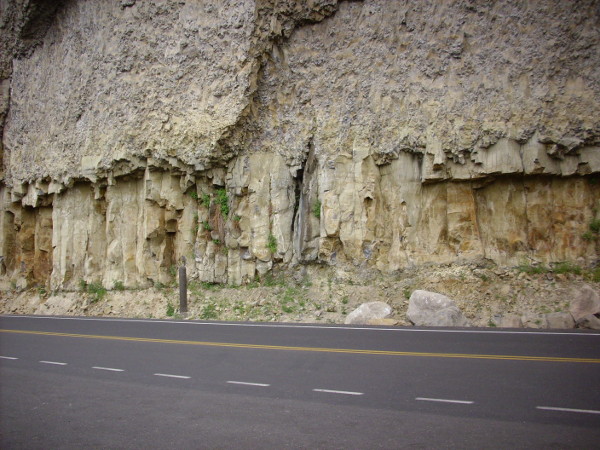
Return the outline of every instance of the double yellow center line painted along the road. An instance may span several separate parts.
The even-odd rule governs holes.
[[[207,341],[181,341],[175,339],[154,339],[125,336],[104,336],[97,334],[54,333],[51,331],[32,330],[2,330],[0,333],[34,334],[41,336],[59,336],[85,339],[104,339],[112,341],[152,342],[158,344],[200,345],[206,347],[233,347],[253,348],[262,350],[291,350],[301,352],[324,353],[352,353],[361,355],[388,355],[388,356],[426,356],[430,358],[465,358],[465,359],[493,359],[510,361],[543,361],[543,362],[571,362],[600,364],[600,359],[594,358],[563,358],[558,356],[519,356],[519,355],[477,355],[470,353],[425,353],[425,352],[398,352],[391,350],[359,350],[349,348],[324,348],[324,347],[291,347],[284,345],[238,344],[234,342],[207,342]]]

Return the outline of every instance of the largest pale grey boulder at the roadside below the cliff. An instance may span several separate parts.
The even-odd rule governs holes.
[[[408,320],[418,326],[466,327],[469,321],[450,298],[435,292],[416,290],[410,296]]]

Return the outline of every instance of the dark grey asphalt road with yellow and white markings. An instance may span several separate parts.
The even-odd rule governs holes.
[[[0,317],[0,448],[600,448],[600,334]]]

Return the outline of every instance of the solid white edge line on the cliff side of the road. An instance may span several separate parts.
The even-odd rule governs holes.
[[[15,319],[49,319],[49,320],[83,320],[96,322],[138,322],[138,323],[162,323],[162,324],[186,324],[186,325],[212,325],[220,327],[263,327],[263,328],[307,328],[325,330],[364,330],[364,331],[396,331],[405,333],[467,333],[467,334],[523,334],[523,335],[567,335],[567,336],[600,336],[600,333],[573,333],[569,331],[501,331],[501,330],[432,330],[414,328],[367,328],[367,327],[331,327],[327,325],[294,325],[294,324],[263,324],[263,323],[226,323],[226,322],[191,322],[177,320],[146,320],[146,319],[103,319],[95,317],[49,317],[49,316],[27,316],[0,314],[0,318]]]

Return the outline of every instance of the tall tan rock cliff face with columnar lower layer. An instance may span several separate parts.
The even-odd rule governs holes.
[[[0,272],[598,259],[593,0],[0,1]],[[507,30],[512,30],[507,32]]]

